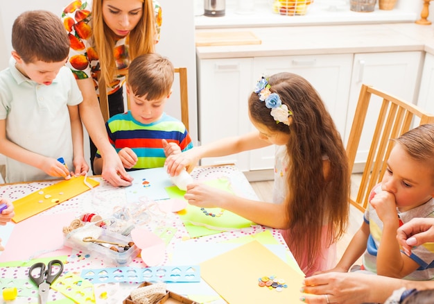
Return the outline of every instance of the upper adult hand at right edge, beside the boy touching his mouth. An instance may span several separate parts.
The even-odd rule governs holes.
[[[413,246],[434,242],[434,219],[415,218],[397,230],[397,240],[406,255],[411,255]]]

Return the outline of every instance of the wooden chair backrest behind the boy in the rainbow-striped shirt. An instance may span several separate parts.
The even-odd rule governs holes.
[[[179,78],[180,78],[181,121],[186,127],[186,129],[189,130],[189,94],[188,94],[188,87],[187,87],[187,68],[175,67],[175,74],[176,73],[179,74]],[[100,79],[100,87],[105,87],[105,85],[104,86],[103,85],[104,83],[102,82],[102,79]],[[105,92],[101,92],[101,91],[103,90],[100,90],[100,108],[101,108],[101,113],[103,114],[104,121],[107,121],[110,118],[108,112],[107,95],[104,94]],[[130,101],[128,100],[128,96],[127,96],[127,105],[128,105],[128,109],[130,109]]]

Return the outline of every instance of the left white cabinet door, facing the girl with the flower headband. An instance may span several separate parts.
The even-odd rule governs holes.
[[[198,104],[200,144],[248,133],[248,96],[254,87],[252,58],[198,60]],[[204,158],[200,164],[236,164],[250,170],[249,153],[222,158]]]

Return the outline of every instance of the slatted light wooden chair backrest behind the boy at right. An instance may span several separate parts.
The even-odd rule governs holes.
[[[382,102],[378,102],[381,100]],[[377,90],[374,87],[362,85],[347,142],[350,171],[354,168],[361,137],[365,136],[365,133],[362,134],[362,131],[370,127],[368,126],[369,122],[365,121],[368,108],[370,110],[369,121],[375,121],[374,118],[377,114],[378,118],[376,119],[374,132],[368,138],[369,141],[372,137],[372,141],[369,141],[370,149],[367,153],[365,169],[363,170],[358,192],[356,197],[351,196],[350,198],[351,204],[363,212],[367,208],[368,197],[372,187],[382,180],[385,173],[387,160],[393,146],[393,142],[390,140],[399,137],[399,135],[406,133],[416,126],[434,124],[434,115],[424,112],[424,110],[418,108],[416,105]],[[372,115],[372,109],[374,109],[376,114]]]

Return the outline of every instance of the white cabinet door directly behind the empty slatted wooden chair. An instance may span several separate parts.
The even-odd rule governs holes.
[[[351,76],[351,87],[347,110],[347,124],[345,130],[345,144],[349,137],[354,112],[358,101],[361,85],[372,85],[379,89],[398,96],[407,101],[416,103],[416,86],[419,79],[419,67],[422,65],[422,52],[394,52],[394,53],[358,53],[354,55],[354,67]],[[378,112],[381,101],[367,112],[367,121],[358,146],[356,162],[364,163],[369,151],[370,139],[374,133],[377,115],[370,116],[370,112]],[[343,113],[342,113],[343,114]]]

